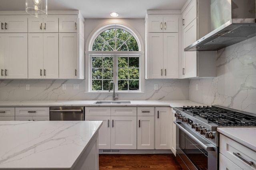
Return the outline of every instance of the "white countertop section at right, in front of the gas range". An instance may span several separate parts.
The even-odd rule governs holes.
[[[220,127],[217,131],[256,151],[256,127]]]

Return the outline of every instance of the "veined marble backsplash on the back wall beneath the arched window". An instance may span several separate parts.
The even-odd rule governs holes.
[[[111,93],[85,93],[85,80],[0,80],[0,100],[112,100]],[[26,85],[30,90],[26,90]],[[62,90],[66,84],[66,90]],[[73,85],[79,85],[78,90]],[[154,90],[158,84],[158,90]],[[189,80],[145,80],[144,93],[118,93],[119,100],[188,100]]]

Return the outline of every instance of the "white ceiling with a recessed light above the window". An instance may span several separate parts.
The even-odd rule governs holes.
[[[146,10],[180,10],[187,0],[48,0],[48,10],[80,10],[84,18],[145,18]],[[0,0],[0,11],[25,10],[25,0]]]

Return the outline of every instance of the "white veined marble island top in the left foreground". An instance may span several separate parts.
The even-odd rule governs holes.
[[[0,121],[0,169],[73,168],[102,121]]]

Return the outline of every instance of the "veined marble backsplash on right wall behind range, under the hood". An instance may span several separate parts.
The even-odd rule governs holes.
[[[189,100],[256,114],[256,37],[217,54],[217,77],[191,79]]]

